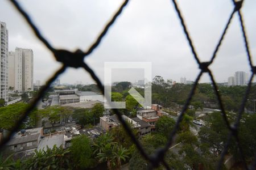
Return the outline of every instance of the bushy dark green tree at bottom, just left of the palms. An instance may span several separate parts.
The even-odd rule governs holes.
[[[82,134],[71,141],[71,156],[77,168],[92,168],[96,165],[93,158],[92,141],[86,135]]]

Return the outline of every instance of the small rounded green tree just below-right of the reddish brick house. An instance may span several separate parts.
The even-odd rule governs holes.
[[[171,133],[172,129],[174,128],[175,120],[171,117],[162,116],[159,120],[155,123],[155,129],[158,133],[163,134],[165,137]]]

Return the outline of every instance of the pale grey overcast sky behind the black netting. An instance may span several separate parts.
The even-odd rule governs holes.
[[[53,46],[75,51],[88,48],[122,1],[23,0],[20,3]],[[232,1],[180,0],[178,4],[200,59],[207,61],[233,10]],[[256,52],[255,7],[255,0],[246,0],[242,8],[252,56]],[[33,50],[34,82],[44,82],[60,67],[8,1],[0,2],[0,20],[6,22],[9,29],[9,50],[15,50],[16,46]],[[217,82],[224,82],[235,71],[250,71],[239,25],[236,14],[217,58],[210,66]],[[101,80],[104,80],[105,61],[150,61],[153,77],[161,75],[177,82],[181,76],[194,80],[200,71],[174,6],[168,0],[131,0],[100,46],[85,61]],[[113,74],[113,79],[134,82],[143,75],[143,71],[138,74],[131,71],[130,76],[123,72]],[[82,69],[68,69],[60,81],[92,83]],[[208,75],[204,75],[200,82],[209,82]]]

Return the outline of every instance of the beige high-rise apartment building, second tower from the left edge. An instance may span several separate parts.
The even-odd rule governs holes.
[[[14,56],[13,63],[14,69],[9,69],[9,74],[14,71],[14,90],[32,91],[33,86],[33,51],[31,49],[16,48],[15,52],[10,52],[11,57]]]

